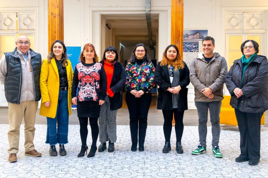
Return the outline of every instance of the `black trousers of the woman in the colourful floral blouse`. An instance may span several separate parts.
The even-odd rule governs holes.
[[[136,98],[126,93],[126,103],[130,118],[130,134],[132,142],[143,144],[147,129],[147,116],[152,102],[152,93],[144,93]]]

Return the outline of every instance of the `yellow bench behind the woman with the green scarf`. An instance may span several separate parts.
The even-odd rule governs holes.
[[[224,96],[220,113],[220,124],[237,125],[234,108],[230,105],[231,96]],[[264,125],[264,115],[261,117],[261,125]]]

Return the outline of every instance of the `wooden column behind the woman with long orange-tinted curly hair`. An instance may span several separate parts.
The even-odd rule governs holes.
[[[183,2],[184,0],[171,0],[171,44],[179,48],[183,58]],[[175,125],[174,117],[172,125]]]

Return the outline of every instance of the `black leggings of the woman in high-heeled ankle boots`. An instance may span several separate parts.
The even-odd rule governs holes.
[[[80,137],[82,145],[87,145],[88,136],[88,117],[78,117],[80,123]],[[91,128],[92,146],[97,146],[99,135],[98,118],[90,117],[89,124]]]

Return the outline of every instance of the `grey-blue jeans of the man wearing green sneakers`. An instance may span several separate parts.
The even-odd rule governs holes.
[[[212,146],[219,146],[219,139],[221,133],[220,126],[220,110],[222,106],[221,101],[213,102],[195,102],[198,113],[198,133],[200,145],[206,147],[207,139],[207,113],[209,109],[211,131],[212,131]]]

